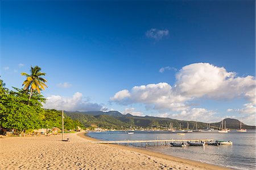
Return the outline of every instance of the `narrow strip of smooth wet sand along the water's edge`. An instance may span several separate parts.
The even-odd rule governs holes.
[[[92,141],[100,140],[100,139],[96,139],[96,138],[92,138],[92,137],[88,136],[88,132],[79,132],[79,133],[77,133],[77,135],[80,136],[81,138],[85,138],[87,140],[92,140]],[[154,156],[154,157],[158,157],[160,159],[171,160],[171,161],[175,161],[176,163],[188,164],[188,165],[192,165],[192,166],[199,167],[199,168],[204,168],[204,169],[212,169],[212,170],[215,170],[215,169],[220,169],[220,170],[233,169],[233,168],[224,167],[224,166],[221,166],[221,165],[202,163],[202,162],[196,161],[196,160],[190,160],[190,159],[186,159],[186,158],[181,158],[181,157],[176,157],[176,156],[172,156],[172,155],[162,154],[160,152],[144,150],[144,149],[141,149],[141,148],[123,146],[123,145],[118,145],[118,144],[103,144],[103,145],[108,145],[108,146],[111,146],[111,147],[121,148],[121,149],[129,150],[129,151],[135,151],[135,152],[139,152],[141,154],[146,154],[148,156]]]

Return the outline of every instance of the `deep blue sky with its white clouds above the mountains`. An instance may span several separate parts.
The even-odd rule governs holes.
[[[134,115],[208,122],[234,117],[255,124],[255,101],[247,95],[255,90],[255,1],[1,1],[0,74],[6,86],[21,88],[20,72],[30,65],[47,73],[47,107],[73,103],[64,109],[104,106]],[[201,75],[193,84],[200,85],[214,71],[236,76],[207,89],[192,88],[183,77]],[[143,92],[133,92],[142,85]],[[234,85],[236,95],[226,93]],[[154,93],[165,88],[170,95]],[[114,98],[125,89],[126,96]],[[178,96],[184,99],[159,103]]]

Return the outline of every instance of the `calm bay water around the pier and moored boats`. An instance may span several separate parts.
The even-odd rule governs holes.
[[[184,157],[210,164],[223,165],[236,169],[256,169],[256,144],[255,130],[247,132],[231,131],[228,133],[218,132],[193,132],[185,135],[177,135],[172,132],[146,132],[135,131],[127,134],[125,131],[115,132],[89,132],[89,136],[100,140],[154,140],[154,139],[210,139],[231,140],[233,146],[204,146],[204,147],[170,147],[149,146],[147,150],[161,152],[163,154]],[[139,146],[139,145],[138,145]]]

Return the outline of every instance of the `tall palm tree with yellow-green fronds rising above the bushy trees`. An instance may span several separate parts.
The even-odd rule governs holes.
[[[31,99],[33,90],[37,90],[38,93],[40,93],[41,89],[44,90],[44,87],[47,87],[47,85],[44,84],[44,82],[47,82],[47,80],[41,77],[41,76],[46,76],[46,73],[42,73],[40,71],[41,71],[41,68],[36,65],[34,68],[31,66],[30,75],[27,73],[21,73],[22,76],[27,77],[27,79],[22,84],[22,86],[24,85],[23,89],[24,90],[30,89],[30,98],[28,99],[28,101],[30,101]]]

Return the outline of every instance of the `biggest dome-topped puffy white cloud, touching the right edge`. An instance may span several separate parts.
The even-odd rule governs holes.
[[[237,77],[234,72],[209,63],[196,63],[183,67],[176,74],[176,91],[187,97],[210,99],[250,98],[255,89],[253,76]],[[250,98],[251,99],[251,98]]]

